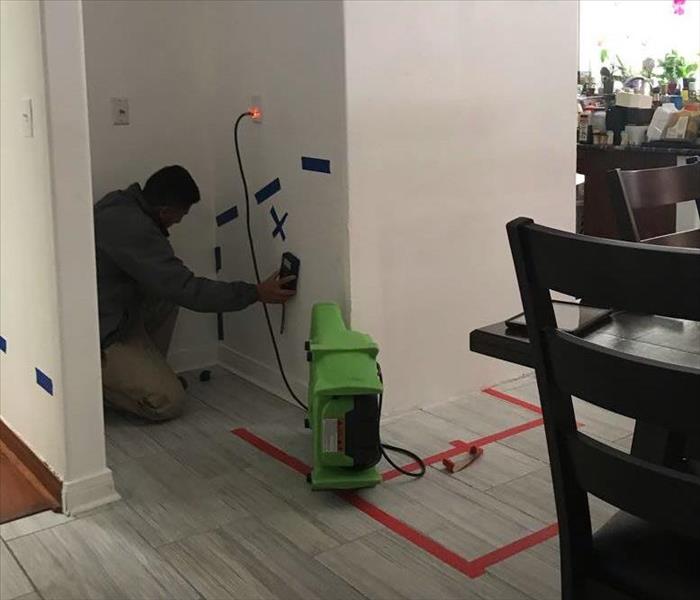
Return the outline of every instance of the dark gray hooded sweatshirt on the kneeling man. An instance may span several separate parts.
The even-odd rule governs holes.
[[[95,245],[103,348],[119,339],[147,296],[197,312],[242,310],[257,300],[250,283],[195,277],[175,256],[137,183],[95,205]]]

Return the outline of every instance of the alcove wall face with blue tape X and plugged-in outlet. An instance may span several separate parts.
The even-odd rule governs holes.
[[[259,206],[251,198],[253,230],[263,275],[279,267],[286,250],[301,259],[298,296],[287,306],[287,327],[279,340],[289,375],[304,394],[311,306],[335,301],[345,310],[349,296],[342,3],[229,2],[208,8],[217,212],[231,204],[240,212],[217,229],[224,265],[220,278],[253,278],[232,125],[251,95],[259,94],[263,123],[246,120],[240,130],[248,182],[253,194],[278,177],[282,190]],[[331,174],[303,171],[302,156],[330,159]],[[280,218],[289,213],[286,242],[272,237],[272,206]],[[279,308],[271,312],[278,329]],[[224,318],[221,360],[287,397],[262,307]]]

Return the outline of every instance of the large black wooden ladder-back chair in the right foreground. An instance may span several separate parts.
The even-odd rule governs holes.
[[[559,521],[566,600],[697,600],[700,477],[577,430],[572,395],[700,435],[700,369],[633,357],[557,329],[550,290],[599,306],[700,320],[700,250],[508,223],[532,344]],[[592,532],[588,493],[619,508]]]

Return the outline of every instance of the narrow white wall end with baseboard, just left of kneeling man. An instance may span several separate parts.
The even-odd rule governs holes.
[[[85,50],[79,0],[43,3],[66,473],[63,507],[118,498],[106,467]]]

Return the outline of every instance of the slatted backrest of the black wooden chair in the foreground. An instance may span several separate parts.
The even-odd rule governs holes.
[[[550,290],[595,305],[700,321],[700,250],[508,223],[533,349],[563,556],[586,564],[586,492],[700,539],[700,477],[630,456],[577,430],[572,395],[671,431],[700,435],[700,369],[632,356],[557,329]],[[583,554],[582,554],[583,553]],[[576,561],[578,557],[578,562]],[[573,566],[572,566],[573,565]]]

